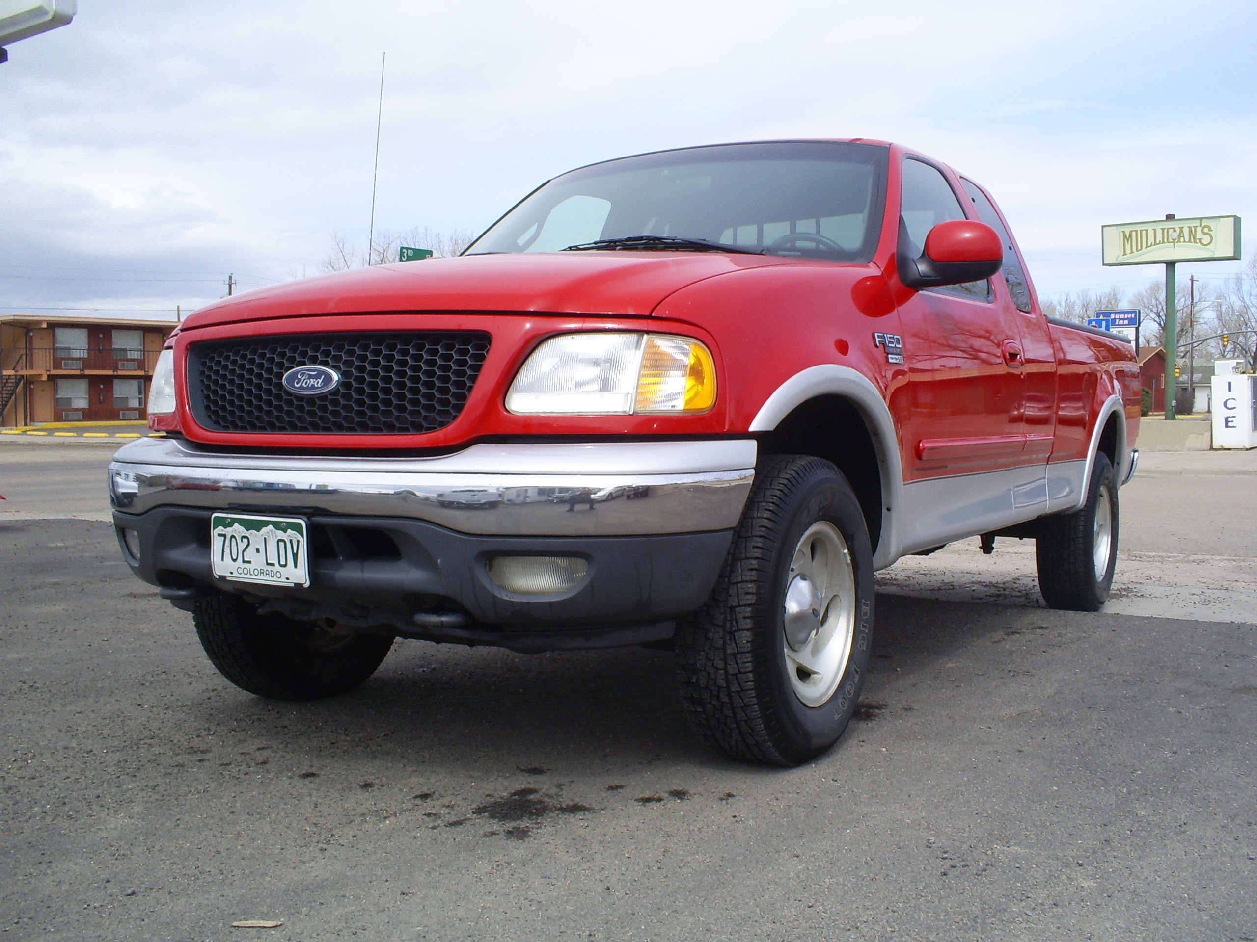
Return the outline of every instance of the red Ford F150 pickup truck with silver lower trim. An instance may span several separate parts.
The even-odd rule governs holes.
[[[564,173],[455,259],[197,311],[109,491],[246,691],[349,690],[397,637],[667,643],[705,741],[792,765],[846,727],[896,559],[1032,538],[1048,605],[1104,604],[1139,399],[972,180],[723,144]]]

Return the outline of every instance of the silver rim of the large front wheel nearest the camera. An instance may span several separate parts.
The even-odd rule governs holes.
[[[856,575],[851,550],[833,524],[812,524],[791,559],[782,605],[782,648],[794,696],[825,703],[851,657]]]

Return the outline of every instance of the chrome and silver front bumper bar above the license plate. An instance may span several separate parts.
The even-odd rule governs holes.
[[[224,455],[142,438],[109,465],[121,514],[160,506],[387,516],[464,534],[627,536],[732,529],[753,440],[473,445],[437,457]]]

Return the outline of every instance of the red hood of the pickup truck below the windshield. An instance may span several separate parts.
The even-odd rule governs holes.
[[[338,271],[202,308],[184,329],[313,314],[470,311],[649,315],[674,291],[789,259],[724,252],[465,255]]]

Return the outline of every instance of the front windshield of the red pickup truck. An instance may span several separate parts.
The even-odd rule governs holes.
[[[596,163],[538,188],[466,254],[724,249],[867,261],[877,244],[886,153],[807,141]]]

